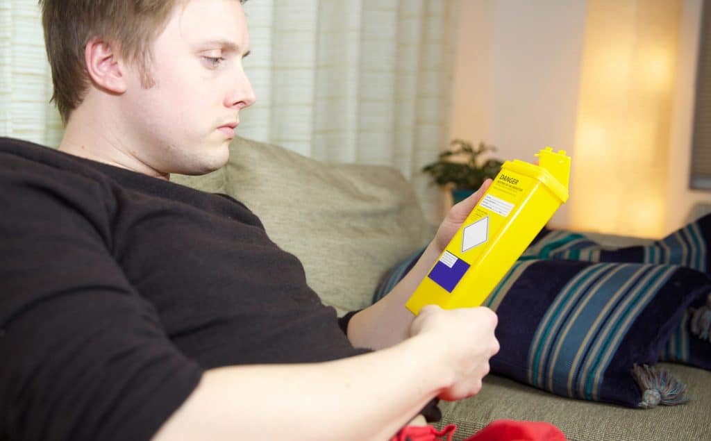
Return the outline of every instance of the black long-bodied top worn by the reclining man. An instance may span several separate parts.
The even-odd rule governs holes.
[[[204,369],[364,351],[242,203],[0,138],[0,440],[145,440]]]

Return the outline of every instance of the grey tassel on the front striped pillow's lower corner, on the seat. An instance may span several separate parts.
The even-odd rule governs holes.
[[[686,386],[665,369],[656,370],[646,364],[635,364],[632,368],[635,381],[642,390],[642,401],[638,407],[654,408],[657,405],[686,403]]]

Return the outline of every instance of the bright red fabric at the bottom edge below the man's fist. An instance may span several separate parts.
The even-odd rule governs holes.
[[[450,424],[439,432],[431,425],[407,426],[390,441],[439,441],[447,436],[451,441],[456,426]],[[565,441],[565,435],[555,425],[531,421],[496,420],[465,441]]]

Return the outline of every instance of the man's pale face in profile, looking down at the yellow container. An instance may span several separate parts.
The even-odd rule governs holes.
[[[255,101],[242,70],[249,34],[237,0],[176,6],[153,45],[141,87],[133,65],[121,100],[132,155],[164,174],[203,174],[223,166],[239,111]]]

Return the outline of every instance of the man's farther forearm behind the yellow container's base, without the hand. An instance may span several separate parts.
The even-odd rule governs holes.
[[[380,302],[355,314],[348,323],[348,339],[353,346],[383,349],[407,339],[415,315],[405,302],[439,257],[434,242],[429,243],[417,263]]]

